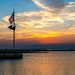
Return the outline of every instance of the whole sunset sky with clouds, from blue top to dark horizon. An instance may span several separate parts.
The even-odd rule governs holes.
[[[75,0],[0,0],[0,48],[12,47],[13,8],[16,48],[75,49]]]

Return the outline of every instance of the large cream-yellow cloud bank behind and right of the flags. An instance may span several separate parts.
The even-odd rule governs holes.
[[[4,17],[4,21],[8,23],[8,19],[10,16]],[[18,26],[18,29],[24,29],[24,30],[43,30],[46,28],[48,31],[51,29],[56,29],[55,26],[58,25],[58,27],[64,23],[64,20],[58,16],[58,17],[52,17],[52,14],[48,11],[36,11],[36,12],[22,12],[16,14],[16,24]]]

